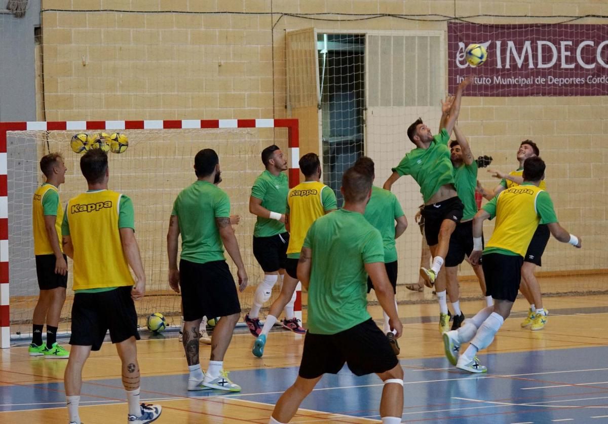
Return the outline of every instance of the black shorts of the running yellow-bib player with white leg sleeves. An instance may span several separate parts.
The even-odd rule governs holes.
[[[519,255],[486,253],[483,255],[483,275],[486,278],[486,296],[514,302],[522,278],[523,258]]]

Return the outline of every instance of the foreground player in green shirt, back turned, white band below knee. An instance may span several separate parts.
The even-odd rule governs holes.
[[[390,343],[367,313],[367,275],[401,336],[395,296],[384,267],[382,236],[365,220],[372,179],[355,168],[342,177],[344,207],[317,219],[308,230],[297,275],[308,289],[308,332],[299,375],[272,411],[271,424],[288,423],[323,374],[344,363],[355,375],[375,373],[384,381],[382,423],[401,423],[403,370]]]

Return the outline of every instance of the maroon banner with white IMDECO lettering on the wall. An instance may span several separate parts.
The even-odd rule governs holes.
[[[471,67],[469,44],[482,44],[488,60]],[[469,96],[608,95],[608,25],[447,24],[449,92],[467,75]]]

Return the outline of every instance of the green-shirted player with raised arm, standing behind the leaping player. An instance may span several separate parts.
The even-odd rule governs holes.
[[[458,126],[454,126],[454,134],[456,140],[450,143],[450,159],[454,166],[454,184],[458,197],[463,202],[465,207],[463,216],[460,222],[456,225],[456,229],[450,237],[449,250],[446,256],[446,289],[447,295],[450,298],[452,307],[454,308],[454,322],[452,330],[460,327],[465,320],[465,314],[460,310],[460,287],[458,287],[458,265],[464,260],[465,256],[471,255],[473,250],[473,217],[477,213],[477,201],[475,200],[475,187],[477,186],[477,162],[473,159],[473,154],[466,137]],[[479,278],[479,284],[482,287],[482,293],[486,295],[486,282],[483,278],[481,265],[472,265],[475,270],[475,275]],[[491,296],[489,296],[489,305],[491,305]],[[444,300],[445,301],[445,300]],[[449,326],[441,329],[441,333],[446,332]]]

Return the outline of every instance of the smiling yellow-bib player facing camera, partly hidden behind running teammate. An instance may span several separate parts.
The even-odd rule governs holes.
[[[539,154],[540,151],[536,146],[536,143],[531,140],[524,140],[519,146],[519,149],[517,149],[519,168],[508,174],[489,169],[489,172],[492,173],[493,177],[501,179],[500,184],[496,186],[494,191],[482,189],[482,195],[490,200],[501,191],[521,184],[523,182],[523,162],[528,159],[528,157],[539,156]],[[542,188],[542,190],[547,190],[544,180],[541,181],[540,188]],[[521,325],[522,327],[529,327],[531,330],[541,330],[547,323],[548,311],[542,304],[541,285],[536,279],[534,271],[536,270],[536,266],[540,267],[542,265],[541,258],[545,251],[545,247],[547,247],[549,236],[550,234],[547,226],[539,225],[530,241],[525,256],[523,256],[522,284],[519,290],[530,304],[530,309],[528,310],[527,318],[523,320]]]

